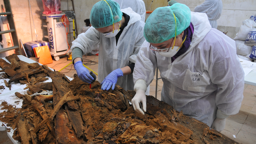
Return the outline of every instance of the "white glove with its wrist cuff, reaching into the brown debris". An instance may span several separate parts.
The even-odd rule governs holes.
[[[146,81],[141,79],[137,80],[134,84],[133,89],[134,91],[136,91],[136,94],[132,99],[133,109],[136,112],[139,112],[144,115],[144,112],[146,112],[146,95],[145,95],[145,91],[147,89]],[[143,110],[139,107],[139,103],[142,104]]]

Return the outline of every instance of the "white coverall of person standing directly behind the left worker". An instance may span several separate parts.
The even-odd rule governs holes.
[[[120,9],[130,7],[140,15],[141,20],[145,22],[146,6],[143,0],[114,0],[120,5]]]

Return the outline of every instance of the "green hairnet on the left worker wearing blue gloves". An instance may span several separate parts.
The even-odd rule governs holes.
[[[121,21],[120,6],[113,0],[101,0],[91,9],[90,22],[94,28],[107,27]]]

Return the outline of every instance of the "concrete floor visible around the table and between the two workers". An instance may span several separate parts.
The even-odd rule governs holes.
[[[98,56],[84,56],[83,62],[92,71],[98,73]],[[95,63],[96,62],[96,63]],[[48,67],[61,70],[66,76],[73,78],[76,73],[71,61],[66,57],[60,58],[59,61],[54,61],[52,64],[47,64]],[[70,64],[69,66],[67,66]],[[66,68],[64,68],[66,66]],[[64,69],[63,69],[64,68]],[[158,73],[159,75],[159,73]],[[159,78],[160,76],[158,76]],[[98,78],[98,77],[97,77]],[[158,80],[157,98],[160,100],[162,80]],[[155,96],[156,78],[150,85],[150,95]],[[245,84],[244,99],[238,114],[232,115],[226,119],[226,126],[221,132],[227,137],[234,139],[242,144],[256,144],[256,86]],[[5,135],[6,131],[0,131],[0,144],[12,144],[12,142]]]

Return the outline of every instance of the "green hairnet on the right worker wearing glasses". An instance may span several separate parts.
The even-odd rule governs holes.
[[[172,6],[158,7],[146,20],[144,26],[144,37],[149,43],[162,43],[175,37],[175,19],[177,30],[176,35],[181,34],[190,25],[190,9],[181,3]]]

